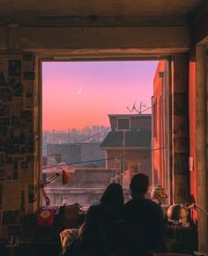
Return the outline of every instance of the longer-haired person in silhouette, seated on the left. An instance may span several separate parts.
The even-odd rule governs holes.
[[[89,207],[85,222],[79,230],[78,248],[87,256],[107,255],[110,251],[109,235],[123,207],[123,188],[109,184],[100,203]]]

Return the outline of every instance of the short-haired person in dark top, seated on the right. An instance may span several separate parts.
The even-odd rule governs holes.
[[[146,198],[148,189],[149,178],[143,173],[134,175],[130,181],[132,199],[123,206],[122,218],[128,223],[127,233],[131,237],[128,241],[132,253],[140,249],[152,252],[163,251],[162,208]]]

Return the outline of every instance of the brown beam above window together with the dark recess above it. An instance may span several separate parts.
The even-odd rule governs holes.
[[[161,56],[187,51],[190,47],[188,19],[184,16],[158,16],[157,19],[88,16],[82,19],[7,20],[6,25],[0,26],[0,50],[26,50],[54,56],[71,52],[75,56],[92,56],[95,51],[103,56]]]

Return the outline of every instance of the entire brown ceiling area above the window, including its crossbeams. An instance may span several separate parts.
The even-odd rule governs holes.
[[[70,58],[168,56],[189,50],[190,24],[206,1],[0,0],[0,49]]]

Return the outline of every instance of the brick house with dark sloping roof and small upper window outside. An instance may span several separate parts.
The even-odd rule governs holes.
[[[108,115],[111,132],[100,144],[106,168],[152,177],[152,115]]]

